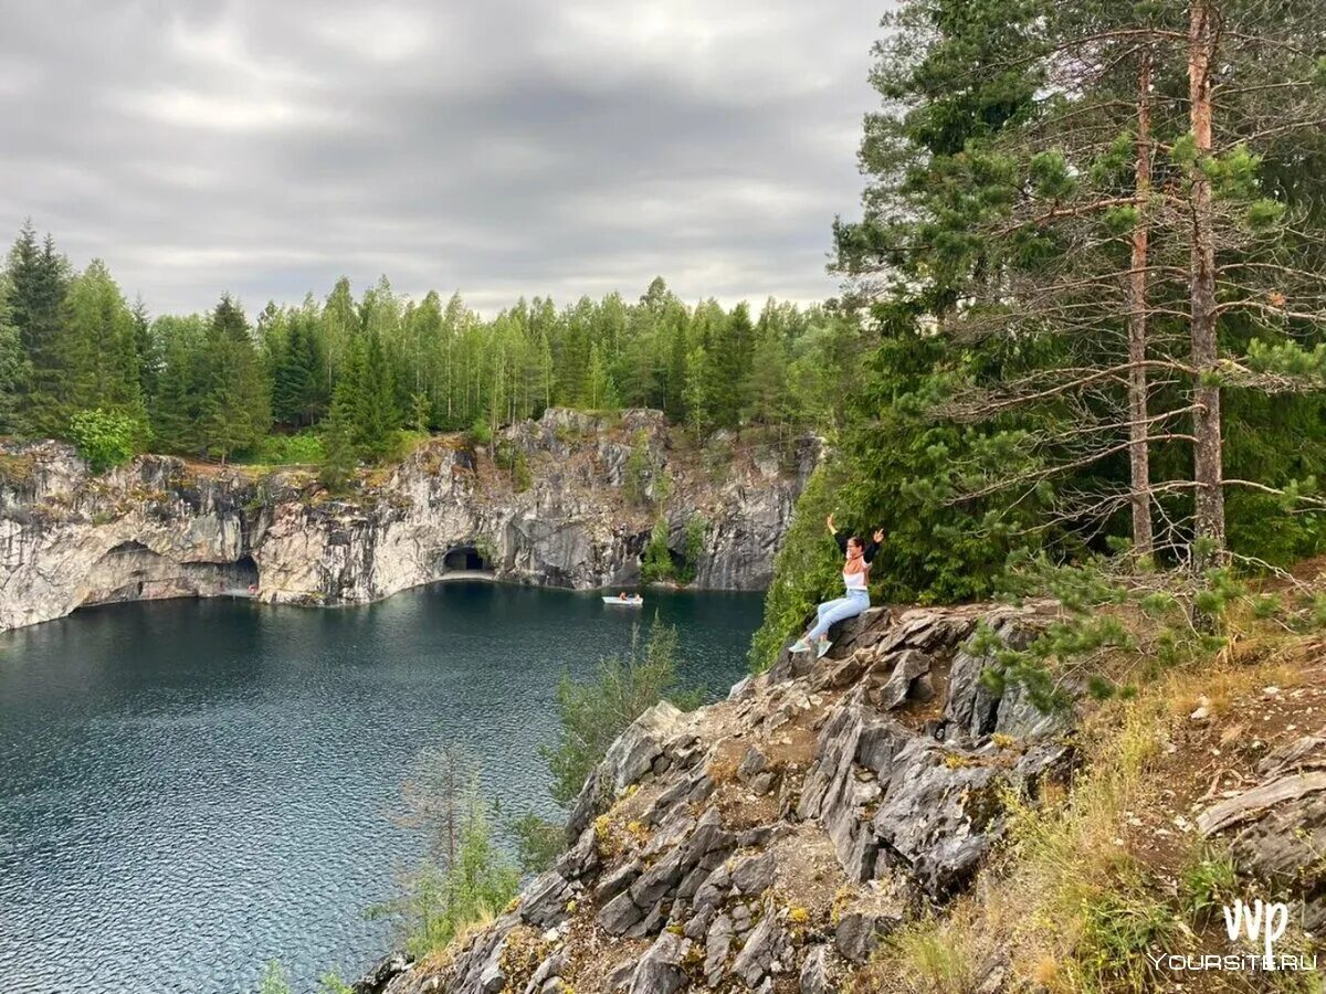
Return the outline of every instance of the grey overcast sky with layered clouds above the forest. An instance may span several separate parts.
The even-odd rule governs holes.
[[[880,0],[0,0],[0,237],[152,313],[831,294]]]

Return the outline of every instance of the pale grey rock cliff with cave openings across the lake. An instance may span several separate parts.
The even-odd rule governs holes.
[[[703,527],[696,586],[757,590],[818,455],[813,440],[790,459],[757,440],[696,448],[658,412],[557,408],[492,449],[436,437],[332,498],[300,469],[142,456],[94,476],[65,445],[0,445],[0,630],[84,604],[251,588],[365,603],[476,566],[513,582],[630,586],[660,513],[678,559],[688,525]]]

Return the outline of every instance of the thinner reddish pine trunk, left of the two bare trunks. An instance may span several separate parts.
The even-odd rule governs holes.
[[[1147,449],[1147,258],[1151,236],[1147,196],[1151,192],[1151,52],[1138,69],[1138,224],[1132,229],[1128,273],[1128,463],[1131,468],[1132,549],[1151,557],[1151,465]]]

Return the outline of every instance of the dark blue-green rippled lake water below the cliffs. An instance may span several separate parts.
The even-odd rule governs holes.
[[[363,912],[423,852],[399,824],[419,753],[453,745],[507,811],[553,815],[537,750],[565,668],[655,611],[683,677],[725,693],[754,594],[446,583],[367,607],[90,608],[0,635],[0,990],[248,994],[354,979],[392,941]]]

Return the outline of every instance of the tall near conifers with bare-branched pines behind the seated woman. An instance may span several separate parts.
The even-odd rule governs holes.
[[[753,660],[825,590],[830,510],[890,600],[1009,565],[1264,571],[1323,547],[1326,11],[908,0],[834,224],[870,347]]]

